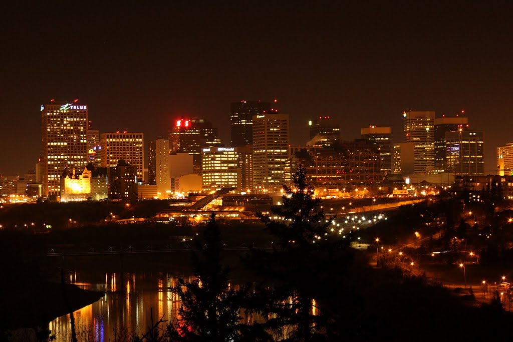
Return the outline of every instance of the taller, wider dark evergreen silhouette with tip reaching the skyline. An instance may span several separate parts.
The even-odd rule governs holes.
[[[334,260],[341,239],[306,183],[305,168],[298,168],[293,184],[283,186],[283,205],[273,206],[269,216],[259,214],[275,243],[272,252],[253,251],[248,264],[272,288],[262,289],[251,307],[269,317],[264,325],[281,335],[278,339],[319,340],[325,337],[327,317],[319,315],[314,303],[328,290],[323,284],[333,284],[328,279],[333,267],[341,267]]]

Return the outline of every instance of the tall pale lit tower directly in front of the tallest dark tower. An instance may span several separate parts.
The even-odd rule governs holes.
[[[290,184],[288,114],[253,115],[253,191],[276,193]]]

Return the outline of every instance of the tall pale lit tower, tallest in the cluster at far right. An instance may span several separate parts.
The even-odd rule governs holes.
[[[426,173],[435,166],[435,112],[403,113],[404,142],[413,143],[413,170]],[[402,172],[404,173],[404,170]]]

